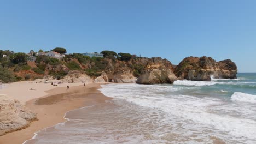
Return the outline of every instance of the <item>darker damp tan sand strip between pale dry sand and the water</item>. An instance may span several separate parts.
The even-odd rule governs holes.
[[[107,83],[89,83],[86,87],[82,83],[79,84],[71,86],[69,90],[66,87],[54,87],[45,91],[48,95],[28,100],[25,106],[37,113],[38,121],[31,122],[25,129],[0,136],[0,144],[24,143],[32,139],[37,131],[66,122],[65,115],[68,111],[112,99],[97,90],[101,88],[100,85]]]

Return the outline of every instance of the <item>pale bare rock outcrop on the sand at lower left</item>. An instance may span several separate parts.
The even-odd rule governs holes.
[[[18,100],[0,95],[0,136],[26,128],[36,119],[36,114],[26,109]]]

